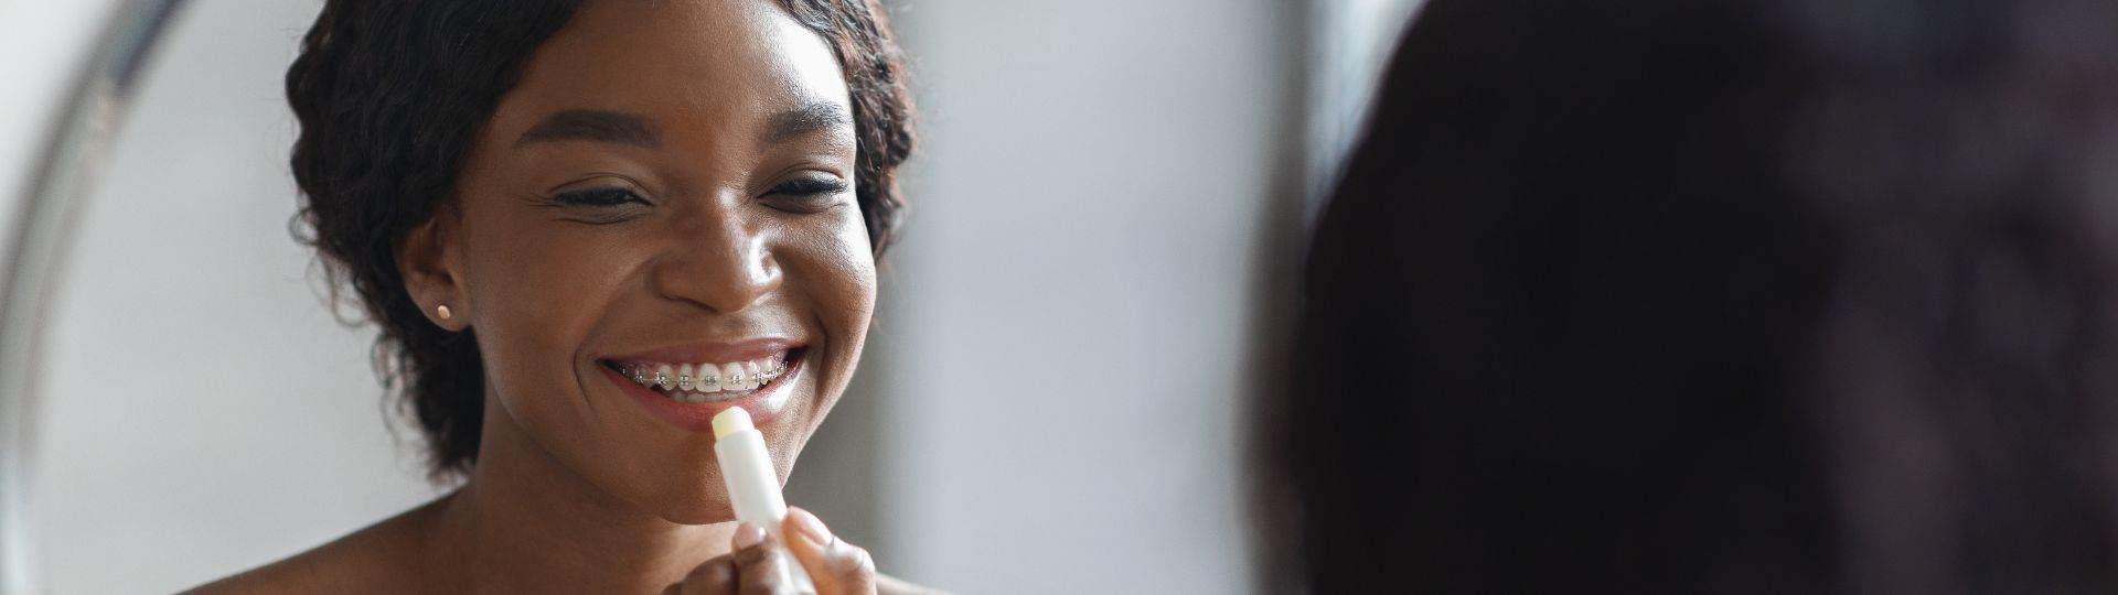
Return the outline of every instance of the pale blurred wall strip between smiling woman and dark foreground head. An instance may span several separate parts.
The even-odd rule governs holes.
[[[1262,256],[1300,2],[919,0],[885,284],[885,548],[966,593],[1243,593]]]

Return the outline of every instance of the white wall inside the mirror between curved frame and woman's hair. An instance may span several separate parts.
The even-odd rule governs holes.
[[[430,495],[369,332],[288,235],[280,76],[318,2],[191,2],[83,212],[49,326],[32,510],[49,593],[155,593]]]

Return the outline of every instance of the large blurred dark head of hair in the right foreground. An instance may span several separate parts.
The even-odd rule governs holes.
[[[2118,4],[1432,0],[1307,263],[1315,593],[2114,593]]]

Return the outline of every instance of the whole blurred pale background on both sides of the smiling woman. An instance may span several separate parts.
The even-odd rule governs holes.
[[[788,500],[962,593],[1275,591],[1243,419],[1284,328],[1258,313],[1419,2],[890,4],[913,216]],[[6,201],[116,6],[0,0]],[[144,66],[28,413],[40,591],[176,591],[447,489],[290,237],[280,80],[318,6],[184,2]]]

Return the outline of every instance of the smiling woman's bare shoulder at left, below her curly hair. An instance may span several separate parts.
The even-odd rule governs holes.
[[[419,544],[441,502],[405,510],[328,544],[186,593],[415,593]]]

